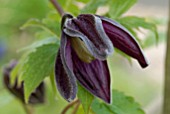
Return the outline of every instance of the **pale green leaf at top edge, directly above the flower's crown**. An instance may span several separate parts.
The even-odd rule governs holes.
[[[91,0],[80,12],[95,14],[98,7],[106,5],[108,1],[109,0]]]

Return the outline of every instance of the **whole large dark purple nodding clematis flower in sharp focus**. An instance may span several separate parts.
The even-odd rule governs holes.
[[[62,18],[61,46],[55,63],[55,77],[60,94],[72,101],[78,81],[93,95],[111,102],[110,73],[107,57],[114,48],[148,66],[135,38],[119,23],[92,14]]]

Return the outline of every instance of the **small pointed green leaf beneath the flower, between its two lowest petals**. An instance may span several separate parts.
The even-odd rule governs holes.
[[[83,106],[85,114],[89,113],[90,106],[94,99],[94,96],[89,93],[84,87],[78,84],[78,98]]]

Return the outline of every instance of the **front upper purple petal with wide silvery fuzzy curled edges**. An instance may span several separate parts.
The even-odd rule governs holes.
[[[105,60],[113,53],[113,45],[106,35],[100,18],[82,14],[65,22],[64,32],[83,40],[89,52],[98,59]]]

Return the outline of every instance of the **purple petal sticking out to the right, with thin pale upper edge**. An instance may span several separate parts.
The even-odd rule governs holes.
[[[135,40],[135,38],[119,23],[100,17],[103,23],[104,30],[112,41],[114,47],[123,51],[127,55],[138,60],[140,65],[145,68],[148,66],[148,62],[142,53],[142,50]]]

